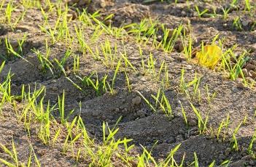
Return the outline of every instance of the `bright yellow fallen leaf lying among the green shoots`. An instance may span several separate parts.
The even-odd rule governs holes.
[[[213,69],[222,57],[222,50],[217,45],[206,45],[196,53],[195,57],[199,65]]]

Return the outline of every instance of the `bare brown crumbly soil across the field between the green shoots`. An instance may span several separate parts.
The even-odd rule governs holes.
[[[256,1],[252,0],[251,3],[256,4]],[[19,4],[19,2],[15,1],[15,4]],[[144,18],[151,18],[157,20],[158,23],[164,23],[166,28],[171,30],[182,23],[187,28],[187,33],[190,33],[193,37],[193,48],[198,48],[202,41],[204,44],[211,44],[214,36],[219,34],[219,38],[223,39],[223,48],[230,48],[237,44],[236,54],[241,54],[244,50],[248,51],[249,60],[243,67],[246,70],[243,71],[247,71],[244,75],[246,74],[248,81],[255,81],[256,7],[252,7],[251,12],[246,12],[244,1],[241,1],[241,4],[236,7],[231,7],[226,19],[222,18],[222,9],[227,8],[230,1],[177,1],[177,3],[174,1],[150,1],[145,3],[141,0],[92,0],[89,3],[84,0],[74,0],[63,2],[63,4],[69,6],[68,16],[71,18],[69,23],[71,36],[76,34],[72,25],[82,24],[78,18],[77,8],[80,10],[87,8],[90,14],[99,11],[101,16],[98,19],[103,22],[104,17],[114,14],[106,24],[111,23],[117,28],[131,23],[140,23]],[[189,4],[192,5],[191,8],[187,7]],[[213,9],[216,9],[216,17],[203,15],[199,18],[195,11],[195,4],[198,5],[201,11],[208,9],[209,13],[213,13]],[[4,7],[7,7],[7,3],[4,4]],[[25,8],[19,4],[12,14],[13,19],[19,17],[24,10]],[[5,66],[1,71],[1,80],[4,81],[9,71],[13,74],[11,82],[13,95],[20,95],[23,86],[26,91],[29,89],[34,91],[36,88],[45,86],[45,105],[47,105],[48,100],[50,100],[51,105],[55,105],[58,103],[58,96],[61,97],[64,90],[66,114],[74,109],[69,121],[80,115],[88,134],[95,139],[97,144],[101,144],[103,138],[102,123],[105,122],[109,127],[113,127],[118,122],[117,128],[119,130],[115,139],[123,139],[124,137],[133,139],[131,141],[131,144],[135,144],[133,152],[131,152],[133,155],[141,153],[143,151],[141,145],[143,145],[148,150],[152,149],[152,156],[161,161],[166,158],[171,149],[181,144],[179,150],[175,152],[174,159],[177,163],[181,163],[183,156],[185,156],[183,166],[189,166],[195,160],[194,152],[196,152],[199,166],[209,166],[213,160],[215,160],[217,166],[220,166],[225,160],[230,160],[228,166],[256,166],[256,144],[252,144],[252,152],[248,152],[249,144],[255,135],[256,129],[255,86],[244,86],[241,83],[241,78],[232,81],[222,71],[210,70],[192,62],[187,62],[185,58],[181,57],[181,41],[177,41],[173,52],[164,52],[153,47],[152,41],[142,44],[137,42],[135,36],[132,35],[117,37],[104,32],[98,38],[93,39],[92,36],[96,36],[96,30],[86,26],[82,35],[86,43],[93,49],[93,52],[96,51],[96,46],[101,49],[101,46],[109,41],[113,53],[115,52],[118,57],[117,61],[125,50],[128,60],[136,69],[134,71],[128,65],[129,69],[126,71],[125,65],[121,65],[121,70],[115,78],[115,94],[109,92],[96,94],[93,87],[85,86],[77,76],[82,78],[93,74],[93,81],[96,81],[96,75],[100,78],[99,80],[107,75],[109,83],[112,83],[117,61],[115,65],[111,65],[112,62],[107,62],[104,58],[102,61],[95,60],[88,50],[85,53],[79,50],[76,39],[71,42],[71,46],[61,40],[51,44],[50,36],[42,32],[42,28],[39,27],[39,25],[44,25],[41,9],[29,8],[26,10],[23,20],[20,20],[13,30],[8,23],[0,22],[0,61],[4,62],[5,60]],[[45,11],[47,11],[46,6]],[[1,11],[1,13],[3,12]],[[4,15],[1,15],[1,17],[4,17]],[[233,20],[236,17],[239,17],[241,22],[240,29],[233,26]],[[57,12],[49,12],[49,25],[45,26],[54,27],[57,19]],[[7,57],[6,55],[9,55],[9,53],[5,39],[8,38],[9,44],[17,50],[19,46],[18,39],[23,38],[24,34],[26,34],[26,40],[23,43],[22,54],[26,60],[20,57]],[[55,34],[55,36],[58,36],[58,34]],[[163,32],[162,34],[159,32],[158,37],[163,38]],[[50,47],[49,59],[53,62],[54,75],[49,69],[42,71],[42,65],[33,51],[36,49],[45,54],[47,52],[46,40],[48,47]],[[140,48],[145,65],[147,65],[150,54],[153,55],[156,71],[160,70],[163,61],[166,62],[169,85],[165,88],[165,94],[171,105],[172,118],[168,118],[160,108],[157,108],[154,112],[138,93],[140,92],[153,103],[155,99],[152,98],[151,94],[156,96],[161,88],[161,83],[157,79],[158,74],[152,74],[148,71],[145,73],[141,68]],[[58,69],[55,60],[61,61],[69,50],[79,56],[79,70],[76,73],[73,72],[74,59],[69,57],[63,67],[66,71],[65,76]],[[104,57],[102,53],[100,54],[101,57]],[[106,64],[109,64],[109,66]],[[186,82],[193,81],[195,75],[201,77],[198,84],[198,90],[201,92],[200,99],[198,97],[187,97],[179,89],[182,69],[185,70],[184,78]],[[128,73],[131,92],[128,90],[125,73]],[[82,91],[74,83],[82,88]],[[209,89],[208,92],[206,85]],[[188,91],[193,94],[192,87]],[[209,94],[211,96],[216,94],[211,102],[208,99]],[[19,108],[22,110],[23,103],[19,100],[16,103],[20,106],[18,110]],[[208,118],[207,129],[202,133],[198,129],[198,117],[190,103],[201,113],[203,120]],[[187,116],[187,125],[182,115],[182,108]],[[71,152],[63,153],[61,151],[61,143],[65,141],[64,134],[59,137],[57,144],[45,145],[36,136],[36,129],[39,125],[34,123],[31,127],[31,136],[28,136],[22,121],[16,117],[15,110],[17,109],[9,104],[2,108],[0,143],[6,147],[12,147],[13,139],[20,161],[26,162],[28,160],[30,147],[32,146],[41,166],[88,166],[90,160],[77,162],[72,157]],[[62,125],[58,121],[58,110],[55,110],[52,115],[57,120],[53,129],[61,128]],[[220,137],[217,137],[220,124],[227,117],[229,117],[228,126],[227,128],[223,127]],[[119,118],[120,121],[118,121]],[[232,135],[239,125],[241,126],[236,133],[238,150],[234,150]],[[8,155],[1,148],[0,158],[8,159]],[[1,163],[0,165],[4,166]],[[116,160],[112,166],[126,165]],[[136,161],[133,166],[136,166]],[[152,164],[152,166],[154,165]]]

